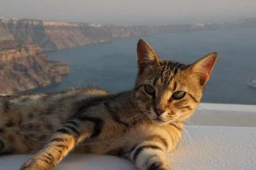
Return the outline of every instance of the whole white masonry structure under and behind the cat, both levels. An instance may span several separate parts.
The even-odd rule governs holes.
[[[172,169],[256,169],[256,105],[201,103],[188,121],[179,146],[167,155]],[[0,169],[19,169],[30,157],[1,156]],[[115,156],[69,154],[55,168],[59,169],[137,168]]]

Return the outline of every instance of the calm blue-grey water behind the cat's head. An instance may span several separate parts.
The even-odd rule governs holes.
[[[49,59],[67,62],[71,73],[57,86],[27,92],[53,92],[72,87],[95,86],[117,93],[134,86],[139,38],[151,45],[159,58],[193,63],[218,52],[217,63],[201,102],[256,104],[256,28],[163,33],[147,37],[47,51]]]

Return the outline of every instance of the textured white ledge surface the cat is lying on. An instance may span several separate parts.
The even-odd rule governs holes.
[[[179,146],[167,155],[173,170],[255,169],[256,128],[185,126]],[[18,169],[30,155],[0,157],[0,169]],[[55,170],[137,169],[115,156],[70,154]],[[138,169],[137,169],[138,170]]]

